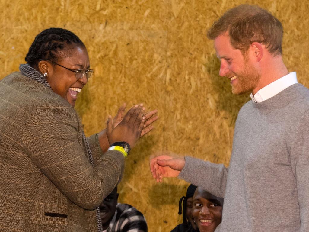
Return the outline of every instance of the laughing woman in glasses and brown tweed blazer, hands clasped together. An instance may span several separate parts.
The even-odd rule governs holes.
[[[0,231],[101,230],[95,208],[120,182],[126,155],[107,149],[133,147],[157,111],[133,106],[123,118],[124,105],[116,122],[109,117],[107,130],[86,139],[74,110],[93,72],[83,42],[50,28],[25,60],[0,81]]]

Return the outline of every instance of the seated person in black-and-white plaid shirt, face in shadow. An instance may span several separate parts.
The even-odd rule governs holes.
[[[145,217],[129,204],[117,203],[117,187],[100,204],[104,232],[148,232]]]

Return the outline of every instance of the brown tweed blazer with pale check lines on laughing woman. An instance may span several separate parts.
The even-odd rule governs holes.
[[[62,97],[19,72],[0,81],[0,231],[97,231],[95,207],[122,178]]]

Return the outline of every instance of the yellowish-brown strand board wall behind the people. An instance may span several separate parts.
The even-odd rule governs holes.
[[[126,161],[120,201],[141,210],[149,231],[170,231],[181,221],[178,200],[187,183],[151,178],[148,160],[169,150],[228,165],[237,112],[248,96],[234,96],[206,30],[227,9],[245,1],[18,1],[0,0],[0,79],[17,71],[40,31],[62,27],[88,48],[95,76],[79,95],[87,135],[105,127],[123,102],[159,110],[156,129]],[[283,55],[309,86],[308,0],[260,0],[284,26]]]

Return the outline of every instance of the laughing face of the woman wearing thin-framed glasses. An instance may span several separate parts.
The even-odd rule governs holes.
[[[81,45],[69,45],[69,48],[64,49],[59,54],[57,61],[45,62],[49,62],[50,64],[46,80],[53,92],[59,94],[74,107],[78,93],[87,84],[87,77],[84,75],[78,79],[74,72],[66,68],[72,70],[89,69],[90,61],[87,49]],[[53,64],[52,62],[56,62],[66,68]]]

